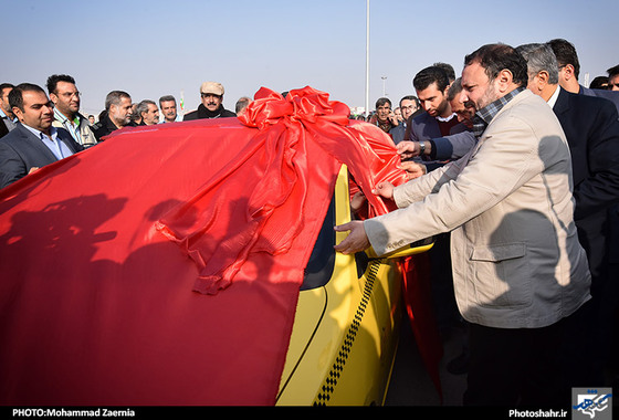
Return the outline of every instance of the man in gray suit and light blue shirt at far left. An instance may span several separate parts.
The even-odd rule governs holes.
[[[40,86],[15,86],[9,94],[9,104],[19,123],[0,139],[0,188],[83,150],[69,132],[52,127],[54,107]]]

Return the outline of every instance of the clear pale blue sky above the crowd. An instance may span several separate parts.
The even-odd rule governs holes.
[[[224,85],[229,109],[261,86],[310,85],[365,105],[366,0],[2,0],[1,9],[2,82],[44,86],[50,74],[71,74],[85,113],[101,112],[113,90],[134,102],[182,93],[191,111],[204,81]],[[382,76],[397,102],[415,94],[421,69],[442,61],[460,73],[465,54],[493,42],[565,38],[585,84],[586,73],[619,64],[618,17],[617,0],[370,0],[370,107]]]

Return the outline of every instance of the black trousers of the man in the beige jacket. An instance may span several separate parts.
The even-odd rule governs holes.
[[[559,354],[565,322],[543,328],[492,328],[470,324],[464,406],[566,407]],[[567,390],[569,391],[569,390]]]

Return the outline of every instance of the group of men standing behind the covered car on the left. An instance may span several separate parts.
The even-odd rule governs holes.
[[[48,77],[46,93],[32,83],[0,84],[0,188],[13,183],[39,168],[96,145],[123,127],[174,123],[198,118],[234,117],[249,102],[242,97],[237,112],[223,107],[223,86],[204,82],[201,104],[181,118],[172,95],[133,103],[124,91],[112,91],[105,109],[86,118],[80,113],[81,93],[66,74]],[[160,114],[162,120],[160,120]]]

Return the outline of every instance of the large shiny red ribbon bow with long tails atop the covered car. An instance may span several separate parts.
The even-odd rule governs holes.
[[[291,91],[285,98],[264,87],[255,94],[239,118],[259,129],[250,147],[240,149],[231,165],[157,224],[198,265],[196,291],[216,294],[228,287],[251,253],[287,252],[307,211],[308,176],[319,170],[318,162],[307,161],[308,144],[348,165],[361,188],[369,191],[376,214],[388,211],[389,204],[370,190],[382,180],[396,185],[406,181],[406,174],[396,168],[395,147],[381,130],[369,125],[349,126],[348,118],[345,104],[328,101],[328,94],[308,86]],[[239,189],[251,191],[246,202],[223,216],[231,220],[227,224],[238,229],[222,230],[216,220]],[[188,208],[195,210],[188,213]]]

